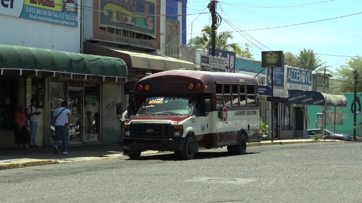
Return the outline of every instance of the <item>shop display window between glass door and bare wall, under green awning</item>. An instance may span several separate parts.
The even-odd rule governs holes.
[[[84,84],[84,141],[100,141],[100,85]]]

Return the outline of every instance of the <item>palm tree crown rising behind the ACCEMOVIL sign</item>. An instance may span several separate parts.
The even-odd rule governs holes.
[[[321,66],[323,63],[319,57],[316,57],[316,54],[313,53],[313,50],[301,50],[299,56],[297,56],[299,61],[299,66],[301,68],[313,71],[317,67]]]

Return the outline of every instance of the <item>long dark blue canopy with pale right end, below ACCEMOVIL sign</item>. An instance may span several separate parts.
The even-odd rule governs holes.
[[[326,94],[319,91],[289,89],[289,97],[276,100],[277,103],[346,107],[347,98],[340,94]]]

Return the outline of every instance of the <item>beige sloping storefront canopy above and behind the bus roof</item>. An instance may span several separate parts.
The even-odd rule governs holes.
[[[183,61],[151,52],[131,51],[115,47],[95,45],[88,42],[84,43],[84,51],[88,54],[122,58],[126,62],[130,72],[134,71],[132,69],[143,69],[145,71],[163,71],[176,70],[180,68],[190,70],[195,68],[195,64],[189,61]]]

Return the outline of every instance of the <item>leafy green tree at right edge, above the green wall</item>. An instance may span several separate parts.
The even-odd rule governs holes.
[[[335,78],[338,80],[337,87],[339,87],[336,90],[337,92],[354,91],[354,86],[353,86],[354,70],[357,70],[357,75],[358,75],[357,92],[362,91],[361,87],[362,80],[360,79],[362,77],[362,58],[352,57],[349,59],[349,61],[347,61],[345,65],[341,65],[339,68],[337,68],[335,72]]]

